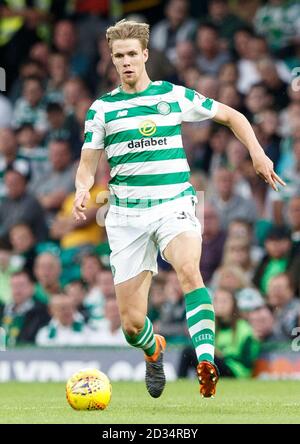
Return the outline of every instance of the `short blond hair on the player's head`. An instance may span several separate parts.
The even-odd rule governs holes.
[[[110,49],[114,40],[125,39],[137,39],[142,48],[146,49],[149,42],[149,25],[123,19],[110,26],[106,31],[106,40]]]

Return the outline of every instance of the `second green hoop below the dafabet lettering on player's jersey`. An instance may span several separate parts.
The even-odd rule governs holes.
[[[129,187],[173,185],[187,182],[190,178],[189,171],[168,174],[140,174],[134,176],[122,176],[117,174],[110,181],[110,185],[127,185]]]

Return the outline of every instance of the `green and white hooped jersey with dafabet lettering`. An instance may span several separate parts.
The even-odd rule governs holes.
[[[216,112],[214,100],[165,81],[133,94],[118,87],[96,100],[87,112],[82,149],[105,149],[111,205],[149,208],[195,194],[181,122],[199,122]]]

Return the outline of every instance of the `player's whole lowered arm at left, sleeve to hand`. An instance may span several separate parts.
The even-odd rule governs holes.
[[[105,125],[101,100],[96,100],[86,114],[84,144],[76,173],[76,194],[73,204],[75,220],[86,220],[87,202],[94,185],[98,163],[104,149]]]

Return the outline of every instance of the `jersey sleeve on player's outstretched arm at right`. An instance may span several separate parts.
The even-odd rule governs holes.
[[[179,97],[183,122],[201,122],[215,117],[218,110],[218,102],[215,100],[183,86],[177,86],[176,93]]]

